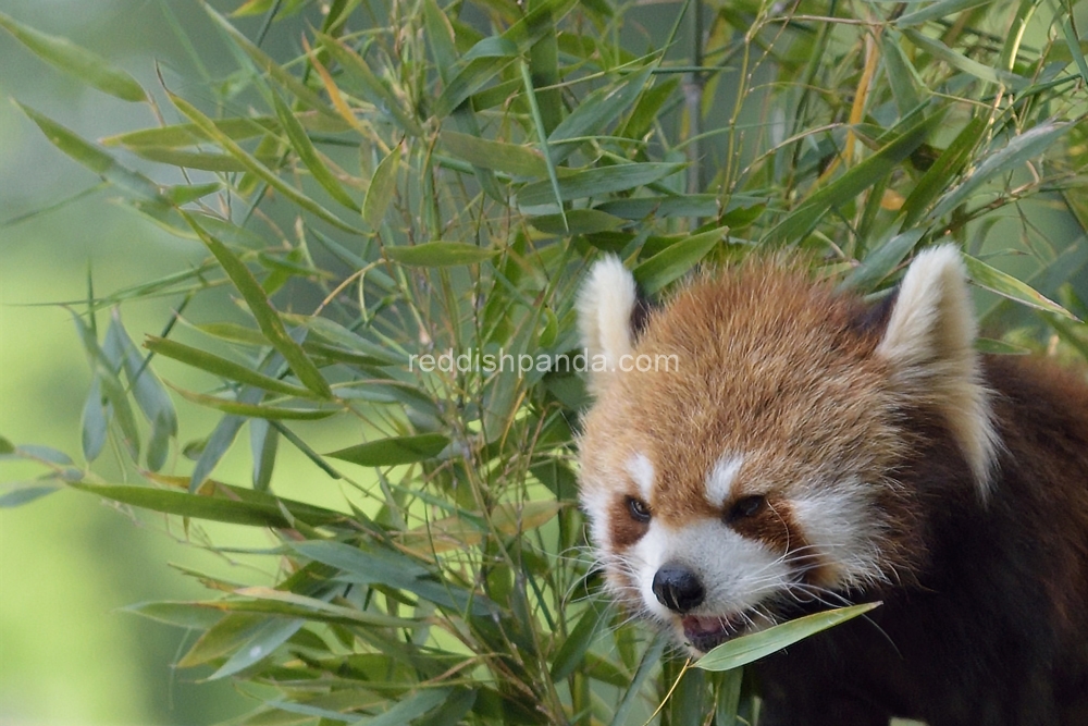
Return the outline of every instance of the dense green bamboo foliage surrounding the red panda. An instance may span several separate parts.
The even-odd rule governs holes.
[[[273,687],[242,723],[752,719],[740,670],[687,667],[598,594],[572,460],[582,272],[616,253],[667,294],[695,266],[799,247],[879,294],[950,238],[1002,296],[984,325],[1017,329],[989,348],[1088,355],[1073,11],[248,0],[208,11],[237,70],[185,94],[0,14],[45,61],[151,106],[160,126],[97,143],[23,110],[111,196],[209,253],[88,293],[82,456],[0,442],[46,468],[3,503],[75,488],[186,532],[270,528],[274,582],[194,574],[208,601],[135,607],[202,631],[181,666]],[[263,22],[244,34],[248,15]],[[262,49],[277,33],[294,57]],[[136,171],[147,161],[161,175]],[[224,287],[236,306],[186,315]],[[106,313],[151,296],[177,315],[140,345]],[[207,385],[172,385],[164,361]],[[181,440],[175,401],[218,424]],[[330,452],[345,426],[358,443]],[[251,482],[221,481],[239,435]],[[285,447],[342,506],[276,491]],[[107,453],[126,483],[96,473]]]

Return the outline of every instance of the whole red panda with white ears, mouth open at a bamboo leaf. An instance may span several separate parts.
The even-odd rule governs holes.
[[[1088,724],[1088,385],[977,354],[965,276],[930,248],[874,306],[750,260],[647,310],[609,257],[582,290],[611,595],[696,655],[883,603],[761,662],[761,726]]]

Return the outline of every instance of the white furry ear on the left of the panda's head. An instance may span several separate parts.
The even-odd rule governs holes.
[[[604,390],[619,359],[633,348],[631,313],[636,304],[634,276],[618,257],[608,255],[594,263],[578,297],[578,328],[589,356],[590,389],[595,394]]]

